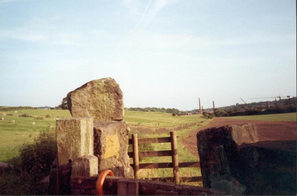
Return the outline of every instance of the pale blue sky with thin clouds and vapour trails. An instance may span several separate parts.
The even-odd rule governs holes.
[[[0,0],[0,106],[111,77],[125,107],[296,96],[296,0]]]

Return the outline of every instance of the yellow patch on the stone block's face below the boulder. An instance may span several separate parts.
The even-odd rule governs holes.
[[[115,156],[119,157],[120,142],[117,133],[114,135],[106,136],[106,150],[104,153],[104,158],[109,158]]]

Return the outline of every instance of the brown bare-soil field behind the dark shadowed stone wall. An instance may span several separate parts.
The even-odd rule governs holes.
[[[198,131],[213,127],[231,124],[254,123],[257,127],[259,141],[267,140],[296,140],[296,122],[292,121],[262,121],[214,118],[210,123],[193,130],[188,138],[182,139],[182,143],[193,155],[198,157],[197,138]]]

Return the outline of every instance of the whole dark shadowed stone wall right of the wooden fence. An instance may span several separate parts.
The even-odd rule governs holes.
[[[253,124],[197,133],[203,187],[228,194],[295,195],[296,141],[258,142]]]

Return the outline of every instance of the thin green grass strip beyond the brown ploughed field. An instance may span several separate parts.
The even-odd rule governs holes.
[[[254,115],[254,116],[241,116],[241,117],[224,117],[232,119],[244,120],[265,120],[265,121],[296,121],[296,113],[275,114],[275,115]]]

